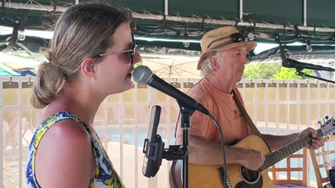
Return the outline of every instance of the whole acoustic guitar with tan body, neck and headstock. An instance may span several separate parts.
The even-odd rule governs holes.
[[[320,122],[319,122],[320,123]],[[318,136],[327,136],[335,132],[334,118],[328,118],[320,123]],[[228,187],[232,188],[270,188],[276,187],[269,178],[267,169],[282,159],[311,144],[311,134],[289,143],[278,150],[271,152],[267,143],[259,136],[251,135],[239,141],[234,147],[259,150],[265,155],[265,162],[258,171],[251,171],[241,164],[227,164]],[[223,187],[224,171],[221,165],[188,165],[188,183],[192,188]]]

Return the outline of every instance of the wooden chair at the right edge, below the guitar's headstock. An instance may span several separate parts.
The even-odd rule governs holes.
[[[335,136],[329,136],[326,138],[327,142],[325,144],[334,143]],[[329,164],[329,155],[335,154],[335,150],[326,150],[325,146],[322,146],[322,149],[320,152],[318,150],[309,150],[309,153],[311,154],[311,159],[313,162],[313,168],[315,171],[315,178],[316,182],[318,184],[318,188],[322,187],[332,187],[332,185],[329,183],[329,171],[330,164]],[[318,160],[319,157],[319,160]],[[322,157],[323,163],[320,162],[320,157]],[[325,177],[322,177],[321,169],[325,168]],[[325,184],[325,185],[324,185]]]

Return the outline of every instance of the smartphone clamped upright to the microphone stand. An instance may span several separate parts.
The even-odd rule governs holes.
[[[161,155],[157,155],[158,152],[160,152],[158,150],[161,150],[161,145],[156,143],[157,127],[159,124],[160,117],[161,117],[161,107],[160,106],[152,107],[147,139],[145,139],[143,146],[144,159],[143,159],[142,173],[144,176],[148,178],[156,175],[159,166],[161,166],[159,162],[159,157]],[[156,146],[150,145],[150,143],[156,143]],[[156,156],[154,156],[155,150],[156,150]]]

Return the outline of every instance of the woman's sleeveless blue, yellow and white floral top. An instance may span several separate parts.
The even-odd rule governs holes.
[[[59,120],[65,119],[73,119],[77,122],[81,123],[82,127],[91,137],[91,146],[93,155],[96,159],[96,172],[94,173],[94,178],[91,180],[89,188],[124,188],[124,185],[121,182],[121,178],[117,175],[117,172],[114,170],[112,162],[110,162],[110,158],[108,157],[103,145],[101,144],[100,139],[96,139],[96,136],[92,136],[89,127],[85,123],[83,123],[79,118],[73,116],[72,114],[61,111],[56,113],[49,118],[47,118],[42,124],[40,124],[37,130],[34,133],[34,136],[31,140],[28,150],[28,158],[27,158],[27,184],[29,188],[39,188],[38,182],[36,180],[35,175],[35,156],[36,150],[38,147],[38,143],[40,143],[40,139],[42,139],[43,135],[47,130],[57,123]],[[97,137],[98,138],[98,137]]]

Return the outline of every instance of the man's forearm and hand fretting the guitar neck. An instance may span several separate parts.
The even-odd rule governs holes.
[[[288,143],[291,143],[292,141],[295,141],[301,136],[305,136],[307,134],[312,134],[312,144],[309,146],[306,146],[308,149],[316,150],[319,147],[324,145],[325,139],[322,136],[316,135],[316,130],[312,128],[307,128],[306,130],[303,130],[302,132],[298,132],[295,134],[289,134],[289,135],[283,135],[283,136],[276,136],[271,134],[262,134],[262,138],[265,139],[265,142],[267,142],[267,145],[270,147],[271,151],[278,150],[279,148],[285,146]]]

